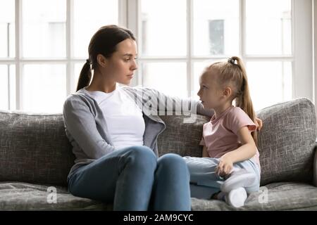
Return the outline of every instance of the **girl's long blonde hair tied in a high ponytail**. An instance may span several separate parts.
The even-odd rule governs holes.
[[[251,101],[247,72],[241,58],[232,56],[228,62],[213,63],[207,70],[216,70],[217,82],[220,86],[230,85],[232,87],[232,101],[235,106],[242,108],[247,115],[255,122],[256,114]],[[254,142],[257,144],[257,132],[251,133]]]

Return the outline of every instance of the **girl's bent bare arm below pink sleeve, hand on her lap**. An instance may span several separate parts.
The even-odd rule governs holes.
[[[216,173],[220,176],[230,174],[233,163],[249,160],[256,154],[256,144],[254,143],[248,127],[242,127],[237,131],[237,136],[242,143],[242,146],[229,153],[225,153],[225,155],[220,158],[218,168],[216,169]]]

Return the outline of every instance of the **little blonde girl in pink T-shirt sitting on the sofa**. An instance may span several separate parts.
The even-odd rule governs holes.
[[[247,194],[259,191],[260,162],[255,113],[242,60],[213,63],[199,79],[204,108],[213,109],[204,124],[203,158],[184,157],[194,198],[225,200],[241,207]],[[235,101],[235,106],[232,105]]]

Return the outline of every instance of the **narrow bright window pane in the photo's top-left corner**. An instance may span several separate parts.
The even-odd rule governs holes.
[[[15,56],[15,12],[13,0],[2,0],[0,7],[0,58]]]

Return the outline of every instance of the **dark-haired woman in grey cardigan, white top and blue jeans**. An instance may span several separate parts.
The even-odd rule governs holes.
[[[211,112],[196,101],[117,86],[130,84],[137,70],[137,44],[130,30],[101,27],[88,52],[77,92],[63,108],[76,157],[68,175],[70,193],[113,203],[113,210],[190,210],[185,161],[175,154],[157,158],[157,136],[166,126],[155,113],[166,110],[168,103],[187,105],[186,111],[195,113]]]

